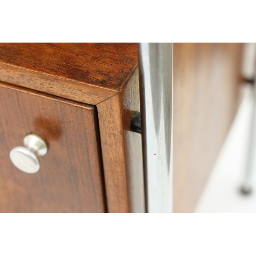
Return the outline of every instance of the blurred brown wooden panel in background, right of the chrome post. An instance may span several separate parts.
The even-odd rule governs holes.
[[[193,212],[238,106],[242,44],[174,43],[174,211]]]

